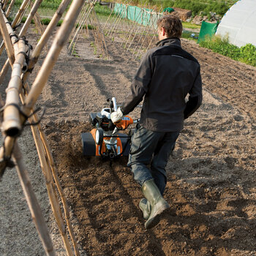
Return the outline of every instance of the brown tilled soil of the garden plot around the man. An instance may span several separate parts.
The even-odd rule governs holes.
[[[47,107],[42,126],[81,252],[256,255],[256,68],[181,40],[201,64],[203,105],[185,122],[167,164],[170,211],[145,230],[138,208],[142,193],[127,159],[110,166],[83,157],[80,139],[92,128],[89,113],[101,110],[109,97],[124,100],[139,62],[108,39],[110,59],[97,58],[89,42],[78,42],[80,58],[62,51],[39,100]],[[131,116],[139,113],[137,108]]]

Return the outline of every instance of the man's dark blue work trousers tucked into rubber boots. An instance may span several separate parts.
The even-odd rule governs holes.
[[[132,145],[127,165],[140,186],[154,178],[161,194],[167,183],[165,167],[174,149],[178,132],[153,132],[137,125],[132,135]]]

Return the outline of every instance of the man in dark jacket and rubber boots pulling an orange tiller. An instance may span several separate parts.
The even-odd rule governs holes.
[[[148,50],[132,81],[130,93],[121,108],[111,114],[113,123],[118,123],[144,97],[127,165],[146,197],[139,203],[146,229],[157,225],[165,210],[170,208],[162,197],[167,183],[167,160],[184,127],[184,119],[199,108],[203,98],[200,64],[181,48],[181,20],[164,15],[157,26],[157,47]]]

